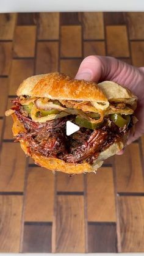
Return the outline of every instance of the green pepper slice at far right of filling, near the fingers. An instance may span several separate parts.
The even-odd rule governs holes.
[[[124,127],[124,125],[129,125],[129,122],[131,121],[130,115],[125,115],[124,117],[122,117],[120,114],[112,114],[110,115],[110,119],[118,127]]]

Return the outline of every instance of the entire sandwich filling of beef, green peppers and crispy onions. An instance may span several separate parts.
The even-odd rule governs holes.
[[[121,141],[134,123],[134,111],[124,102],[110,102],[105,111],[88,101],[21,96],[12,103],[7,115],[15,113],[25,128],[15,141],[28,142],[29,155],[37,153],[66,163],[92,164],[99,153]],[[80,130],[67,136],[67,120]]]

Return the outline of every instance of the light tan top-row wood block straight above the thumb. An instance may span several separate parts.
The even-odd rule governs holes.
[[[84,39],[104,39],[104,23],[102,12],[84,12]]]

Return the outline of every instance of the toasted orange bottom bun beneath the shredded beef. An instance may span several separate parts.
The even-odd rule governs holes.
[[[23,132],[24,126],[18,120],[15,114],[12,115],[13,117],[13,135],[16,136],[18,133]],[[45,167],[49,170],[57,170],[60,172],[65,172],[67,174],[82,174],[85,172],[95,172],[99,167],[102,166],[103,160],[109,158],[110,156],[115,155],[116,153],[120,152],[120,150],[124,147],[126,143],[126,137],[123,138],[123,141],[115,142],[110,145],[109,148],[101,152],[98,158],[94,161],[92,165],[88,163],[81,163],[81,164],[72,164],[72,163],[65,163],[65,161],[58,159],[58,158],[46,158],[45,156],[41,156],[40,154],[36,153],[29,153],[29,144],[26,141],[20,141],[21,148],[26,153],[27,156],[31,156],[34,159],[35,164],[38,166]]]

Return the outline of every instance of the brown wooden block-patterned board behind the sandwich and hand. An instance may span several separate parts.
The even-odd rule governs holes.
[[[72,77],[84,57],[144,67],[144,13],[0,14],[0,252],[144,252],[144,137],[97,174],[49,172],[13,143],[4,117],[28,76]]]

